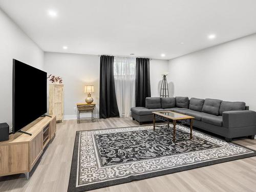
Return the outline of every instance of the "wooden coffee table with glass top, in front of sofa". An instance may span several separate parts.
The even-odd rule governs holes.
[[[156,122],[156,116],[162,117],[164,121],[167,121],[168,127],[169,127],[169,120],[173,120],[173,125],[174,125],[174,136],[173,136],[173,141],[175,142],[175,137],[176,137],[176,121],[177,120],[185,120],[189,119],[190,122],[190,139],[192,139],[192,131],[193,131],[193,119],[195,117],[188,116],[188,115],[183,115],[180,113],[172,112],[172,111],[157,111],[157,112],[152,112],[153,113],[153,123],[154,123],[154,131],[155,131],[155,122]]]

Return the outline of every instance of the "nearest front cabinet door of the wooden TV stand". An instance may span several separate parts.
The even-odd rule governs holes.
[[[30,170],[33,168],[37,160],[42,154],[42,132],[41,131],[36,137],[29,142],[29,160]]]

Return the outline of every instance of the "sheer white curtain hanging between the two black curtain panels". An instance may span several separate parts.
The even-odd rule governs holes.
[[[119,115],[129,117],[135,106],[136,58],[114,57],[114,78]]]

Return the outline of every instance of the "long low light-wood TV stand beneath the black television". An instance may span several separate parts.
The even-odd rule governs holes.
[[[29,172],[55,136],[56,116],[40,117],[23,131],[32,136],[15,133],[8,141],[0,142],[0,176],[24,173],[29,179]]]

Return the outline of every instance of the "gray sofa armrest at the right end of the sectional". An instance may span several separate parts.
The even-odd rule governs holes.
[[[222,113],[223,126],[227,128],[256,126],[254,111],[225,111]]]

